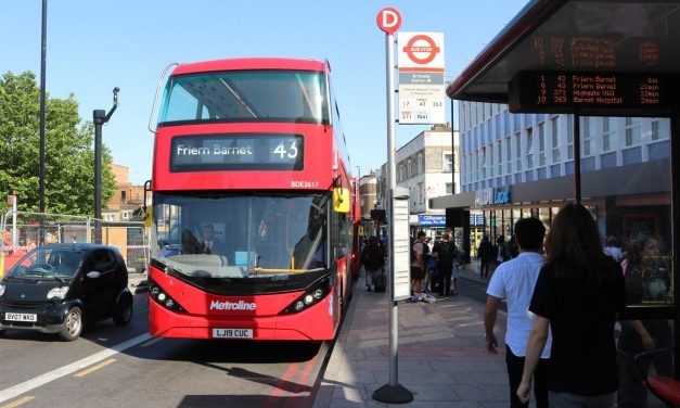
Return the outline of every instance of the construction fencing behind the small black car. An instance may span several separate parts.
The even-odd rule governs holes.
[[[146,270],[150,259],[150,229],[143,221],[101,221],[101,243],[116,246],[130,272]],[[88,242],[95,239],[97,219],[67,214],[9,211],[0,218],[2,246],[0,271],[40,243]],[[41,242],[40,237],[44,237]]]

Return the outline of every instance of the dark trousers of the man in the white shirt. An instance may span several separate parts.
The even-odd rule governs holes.
[[[534,397],[537,408],[548,408],[548,365],[550,360],[541,358],[538,360],[536,371],[534,371]],[[510,380],[510,407],[528,408],[528,404],[522,404],[517,397],[517,387],[522,382],[524,371],[524,357],[515,356],[510,347],[505,345],[505,365],[508,366],[508,380]]]

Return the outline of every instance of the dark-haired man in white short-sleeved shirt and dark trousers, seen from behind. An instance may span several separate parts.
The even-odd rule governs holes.
[[[493,334],[496,316],[502,301],[508,306],[508,330],[505,331],[505,364],[510,381],[510,406],[528,407],[522,404],[515,391],[522,381],[524,357],[534,318],[528,311],[536,280],[543,265],[541,255],[546,227],[537,218],[523,218],[515,224],[515,240],[519,255],[498,266],[487,289],[484,327],[487,349],[498,353],[498,341]],[[548,407],[548,362],[551,339],[548,339],[541,360],[534,373],[534,395],[537,408]]]

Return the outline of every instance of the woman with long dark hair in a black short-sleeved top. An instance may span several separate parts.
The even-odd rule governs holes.
[[[550,327],[551,408],[613,407],[618,388],[614,324],[626,307],[621,268],[602,250],[598,226],[580,204],[560,211],[544,247],[546,264],[529,306],[536,316],[517,396],[529,399],[531,374]]]

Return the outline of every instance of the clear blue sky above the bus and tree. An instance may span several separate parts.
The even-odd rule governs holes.
[[[119,87],[120,104],[103,128],[103,141],[114,162],[129,167],[131,181],[143,183],[151,177],[153,155],[149,117],[168,64],[241,56],[328,59],[351,164],[363,175],[387,161],[385,35],[377,28],[377,12],[397,9],[400,31],[444,33],[450,81],[526,3],[50,0],[47,90],[55,98],[74,93],[80,117],[92,120],[93,110],[111,109],[112,89]],[[41,8],[41,0],[2,1],[0,75],[33,71],[39,78]],[[397,126],[397,146],[424,128]]]

